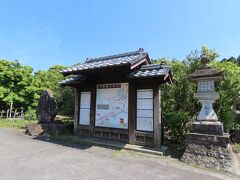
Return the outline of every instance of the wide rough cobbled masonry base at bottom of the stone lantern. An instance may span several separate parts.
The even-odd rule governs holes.
[[[231,173],[238,172],[238,161],[232,151],[229,134],[189,133],[181,161]]]

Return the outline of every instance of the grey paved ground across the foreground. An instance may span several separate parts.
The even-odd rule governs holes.
[[[236,179],[165,157],[40,140],[0,128],[0,179]]]

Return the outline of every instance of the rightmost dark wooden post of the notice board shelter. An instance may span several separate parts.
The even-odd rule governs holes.
[[[154,98],[154,147],[161,146],[161,90],[159,84],[156,84],[153,89]]]

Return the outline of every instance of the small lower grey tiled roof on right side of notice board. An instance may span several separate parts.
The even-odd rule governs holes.
[[[161,64],[143,65],[129,75],[129,78],[160,77],[170,73],[171,67]]]

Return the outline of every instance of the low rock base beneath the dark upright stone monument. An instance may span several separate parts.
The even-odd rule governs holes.
[[[65,132],[63,123],[45,123],[45,124],[27,124],[26,134],[31,136],[39,136],[43,134],[50,134],[56,136]]]

